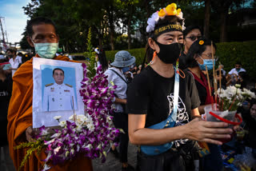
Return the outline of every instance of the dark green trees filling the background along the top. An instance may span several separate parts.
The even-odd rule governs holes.
[[[177,3],[182,9],[185,26],[203,26],[205,16],[205,4],[202,0],[186,0],[172,2]],[[227,2],[231,2],[230,0]],[[227,23],[227,38],[229,42],[255,40],[254,27],[240,28],[238,22],[243,21],[238,10],[244,7],[240,5],[248,0],[235,0],[230,6]],[[219,41],[220,12],[222,4],[226,1],[212,1],[210,14],[210,38],[214,42]],[[79,53],[86,51],[86,34],[91,27],[91,45],[103,47],[105,50],[124,50],[138,48],[146,45],[147,18],[155,11],[170,4],[166,0],[31,0],[23,7],[24,13],[34,18],[44,16],[52,19],[59,35],[59,47],[67,53]],[[252,2],[252,9],[255,2]],[[240,7],[239,7],[240,6]],[[239,8],[238,8],[239,7]],[[236,14],[236,15],[234,15]],[[232,17],[235,16],[235,17]],[[240,16],[240,19],[238,17]],[[234,18],[234,23],[232,22]],[[232,25],[230,23],[232,22]],[[129,30],[129,31],[128,31]],[[130,35],[140,33],[138,39]],[[242,33],[247,33],[242,34]],[[129,35],[128,35],[129,34]],[[125,36],[126,35],[126,36]],[[128,37],[129,39],[128,39]],[[130,41],[129,41],[130,40]],[[26,42],[26,34],[23,35],[21,46],[23,49],[30,46]]]

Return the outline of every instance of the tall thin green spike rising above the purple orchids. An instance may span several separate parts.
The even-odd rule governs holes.
[[[92,53],[92,45],[91,45],[91,27],[89,28],[88,35],[87,35],[87,52],[85,52],[84,56],[89,58],[90,61],[87,64],[87,77],[93,78],[96,74],[96,62],[95,62],[95,55]]]

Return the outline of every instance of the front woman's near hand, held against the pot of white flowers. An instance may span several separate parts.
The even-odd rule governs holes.
[[[217,121],[202,121],[195,118],[186,126],[186,138],[194,141],[205,141],[216,145],[222,145],[218,138],[230,138],[233,130],[226,128],[228,126],[225,122]]]

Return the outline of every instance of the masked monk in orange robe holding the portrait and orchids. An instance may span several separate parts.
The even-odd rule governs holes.
[[[34,58],[52,58],[69,62],[70,59],[61,55],[56,56],[58,48],[58,35],[54,22],[48,18],[34,18],[27,23],[27,41],[35,48]],[[38,44],[40,43],[40,44]],[[33,58],[22,64],[13,77],[13,93],[8,110],[8,141],[10,157],[14,161],[16,169],[22,163],[26,155],[26,149],[14,149],[22,142],[31,141],[34,133],[32,129],[32,97],[33,97]],[[40,155],[33,153],[26,161],[22,170],[41,170],[46,159],[46,153]],[[50,170],[92,170],[89,158],[82,155],[73,161],[67,161],[62,165],[52,165]]]

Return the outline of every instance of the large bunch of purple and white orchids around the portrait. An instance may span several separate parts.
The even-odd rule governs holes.
[[[94,78],[86,77],[86,64],[82,64],[84,78],[80,95],[86,106],[86,114],[90,116],[90,123],[78,125],[78,123],[65,121],[62,129],[54,129],[54,135],[46,136],[48,129],[45,126],[40,128],[37,138],[42,138],[46,145],[47,157],[44,160],[53,161],[54,165],[73,160],[78,153],[83,153],[85,157],[100,157],[102,162],[106,161],[106,153],[109,152],[110,145],[118,145],[114,138],[118,137],[122,130],[114,128],[113,117],[110,113],[114,98],[116,85],[108,87],[107,76],[103,74],[102,67],[99,66]],[[47,137],[47,138],[46,138]],[[43,170],[49,167],[45,164]]]

